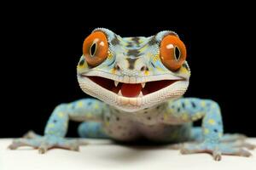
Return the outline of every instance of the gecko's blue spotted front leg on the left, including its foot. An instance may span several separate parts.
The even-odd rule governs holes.
[[[97,107],[91,107],[96,105]],[[63,148],[67,150],[79,150],[79,145],[86,144],[79,139],[65,139],[68,121],[79,122],[93,120],[102,122],[102,113],[106,106],[96,99],[80,99],[70,104],[58,105],[52,112],[44,129],[44,136],[35,133],[27,133],[25,138],[15,139],[9,148],[12,150],[20,146],[32,146],[38,148],[39,153],[44,153],[50,148]]]

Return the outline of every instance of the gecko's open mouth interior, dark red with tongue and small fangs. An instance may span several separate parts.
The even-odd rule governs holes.
[[[84,76],[82,76],[84,77]],[[109,91],[124,96],[127,98],[143,97],[147,94],[152,94],[162,88],[170,86],[172,83],[180,80],[160,80],[154,82],[143,83],[125,83],[117,82],[104,77],[88,77],[92,82],[100,85],[102,88],[106,88]]]

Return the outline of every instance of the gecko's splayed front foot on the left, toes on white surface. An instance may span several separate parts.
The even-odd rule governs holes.
[[[62,137],[47,135],[47,136],[26,136],[33,138],[14,139],[9,145],[10,150],[16,150],[20,146],[32,146],[38,149],[40,154],[44,154],[52,148],[62,148],[66,150],[79,151],[79,145],[87,144],[83,139],[64,139]]]

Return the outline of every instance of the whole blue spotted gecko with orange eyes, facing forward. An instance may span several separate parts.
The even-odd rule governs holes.
[[[44,135],[26,133],[9,148],[32,146],[79,150],[83,140],[67,139],[69,121],[81,122],[82,138],[174,144],[182,154],[251,156],[255,145],[242,134],[225,133],[220,107],[212,99],[184,98],[190,69],[183,41],[174,31],[151,37],[120,37],[97,28],[84,39],[77,77],[94,98],[57,105]],[[193,122],[201,121],[201,127]],[[247,150],[248,149],[248,150]]]

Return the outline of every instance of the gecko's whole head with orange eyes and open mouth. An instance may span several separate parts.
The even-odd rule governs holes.
[[[181,97],[190,77],[185,45],[173,31],[119,37],[96,29],[84,40],[77,71],[84,93],[128,112]]]

